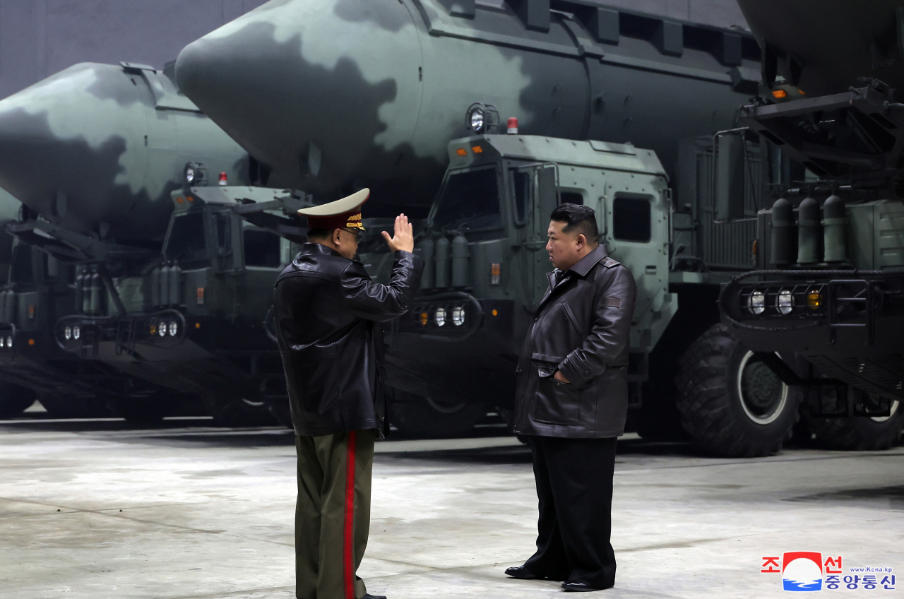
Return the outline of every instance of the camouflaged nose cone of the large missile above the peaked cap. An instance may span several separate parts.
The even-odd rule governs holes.
[[[398,0],[274,0],[185,47],[176,78],[251,156],[338,195],[416,153],[421,64]]]

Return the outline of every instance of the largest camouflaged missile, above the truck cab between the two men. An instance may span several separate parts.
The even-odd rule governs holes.
[[[631,141],[672,166],[678,139],[731,128],[756,92],[749,33],[554,8],[273,0],[186,46],[176,78],[285,185],[318,202],[370,186],[371,216],[426,211],[448,141],[510,117],[525,135]]]

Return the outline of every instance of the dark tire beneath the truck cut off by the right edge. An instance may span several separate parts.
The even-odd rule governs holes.
[[[835,401],[834,387],[820,389],[820,401],[831,409]],[[848,393],[862,393],[850,389]],[[864,402],[870,402],[869,395],[862,394]],[[891,403],[891,414],[885,417],[854,416],[852,418],[815,418],[805,414],[805,422],[816,436],[816,442],[824,449],[846,452],[886,450],[900,441],[904,428],[904,404]]]

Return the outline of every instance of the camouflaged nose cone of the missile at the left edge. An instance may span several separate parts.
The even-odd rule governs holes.
[[[103,220],[98,199],[130,193],[146,159],[146,103],[121,68],[78,64],[0,100],[0,186],[80,231]],[[71,210],[74,203],[78,209]]]

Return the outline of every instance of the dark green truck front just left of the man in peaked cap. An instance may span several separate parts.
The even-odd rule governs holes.
[[[172,195],[161,260],[113,279],[106,308],[60,319],[55,338],[67,351],[171,393],[200,395],[217,423],[273,423],[266,401],[285,399],[286,391],[267,322],[272,287],[304,232],[289,227],[274,234],[251,221],[285,220],[278,214],[256,210],[243,218],[220,187],[188,183]],[[228,189],[274,196],[263,188]],[[285,195],[272,201],[296,210],[306,205]]]

